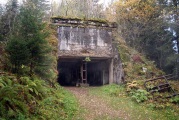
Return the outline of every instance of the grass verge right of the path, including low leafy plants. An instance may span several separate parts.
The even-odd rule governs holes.
[[[124,111],[129,119],[179,120],[179,106],[172,103],[178,101],[177,97],[168,99],[168,102],[153,101],[142,88],[129,93],[126,85],[115,84],[93,89],[91,94],[102,97],[114,109]]]

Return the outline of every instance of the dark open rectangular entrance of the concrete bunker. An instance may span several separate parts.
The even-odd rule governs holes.
[[[87,83],[100,86],[109,83],[109,59],[85,62],[84,58],[60,58],[58,60],[58,82],[62,86]]]

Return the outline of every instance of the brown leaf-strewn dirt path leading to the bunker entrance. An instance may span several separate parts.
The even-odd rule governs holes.
[[[105,100],[91,95],[89,93],[90,88],[78,88],[78,87],[66,87],[71,91],[79,100],[80,106],[86,111],[82,113],[82,117],[85,120],[128,120],[127,116],[122,111],[114,110],[107,105]]]

